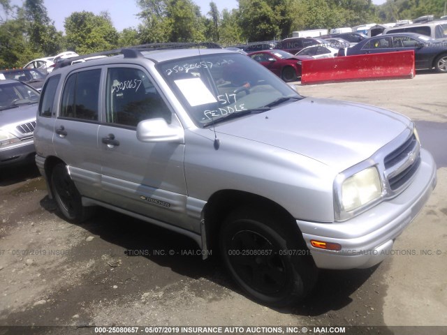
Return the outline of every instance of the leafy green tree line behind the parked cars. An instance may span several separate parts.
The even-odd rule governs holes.
[[[193,0],[135,0],[137,27],[117,31],[108,12],[72,13],[57,31],[43,0],[11,6],[0,0],[0,68],[73,50],[80,54],[145,43],[214,41],[221,45],[290,37],[292,31],[395,22],[443,15],[446,0],[238,0],[219,11],[212,0],[203,15]]]

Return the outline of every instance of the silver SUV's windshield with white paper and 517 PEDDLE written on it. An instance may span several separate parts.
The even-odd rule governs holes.
[[[302,98],[279,77],[243,54],[176,59],[157,68],[198,126],[271,110]]]

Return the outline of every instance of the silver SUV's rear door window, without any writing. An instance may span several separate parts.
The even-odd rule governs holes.
[[[99,82],[101,69],[73,73],[62,93],[59,117],[98,121]]]

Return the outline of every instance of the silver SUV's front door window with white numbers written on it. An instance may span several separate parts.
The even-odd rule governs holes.
[[[137,68],[110,68],[107,74],[105,121],[136,127],[145,119],[162,117],[170,122],[171,112],[149,77]]]

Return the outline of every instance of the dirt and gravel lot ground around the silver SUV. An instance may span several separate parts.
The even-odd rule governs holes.
[[[218,257],[203,261],[186,237],[105,209],[82,225],[67,223],[31,165],[0,175],[0,326],[77,326],[73,334],[112,325],[384,326],[380,334],[429,334],[392,327],[414,325],[447,334],[447,75],[296,85],[305,96],[411,117],[434,155],[437,187],[381,265],[321,271],[302,304],[268,308],[240,292]]]

